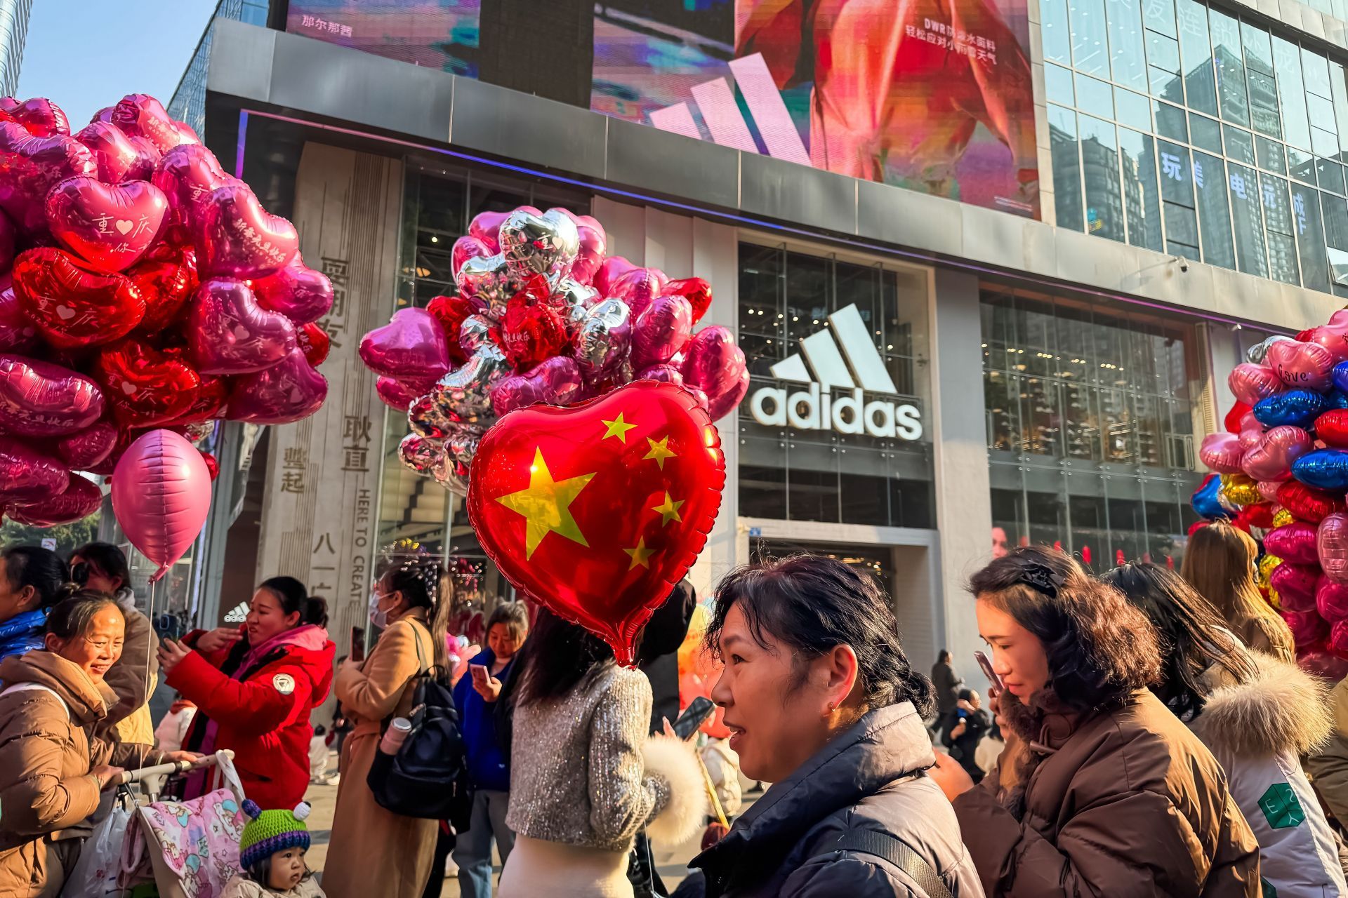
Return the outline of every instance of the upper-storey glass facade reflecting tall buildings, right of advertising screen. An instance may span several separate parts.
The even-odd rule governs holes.
[[[1198,0],[1045,0],[1057,223],[1348,296],[1348,78]]]

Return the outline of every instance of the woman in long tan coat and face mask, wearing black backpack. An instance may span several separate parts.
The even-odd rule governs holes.
[[[324,890],[329,898],[421,898],[435,855],[438,821],[386,810],[369,789],[369,767],[392,718],[412,710],[417,679],[443,669],[448,578],[430,559],[398,563],[375,583],[369,621],[383,627],[364,661],[348,658],[336,692],[355,724],[342,746]]]

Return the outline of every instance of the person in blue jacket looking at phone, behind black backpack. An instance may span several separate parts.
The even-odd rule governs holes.
[[[468,747],[468,777],[473,788],[472,819],[466,832],[457,835],[454,863],[458,864],[458,894],[462,898],[491,898],[492,840],[501,863],[510,858],[515,833],[506,825],[510,809],[510,755],[496,738],[496,701],[501,683],[510,677],[515,658],[528,637],[528,610],[523,602],[501,602],[487,619],[487,650],[474,656],[469,675],[454,687],[460,731]],[[439,883],[427,883],[427,895]]]

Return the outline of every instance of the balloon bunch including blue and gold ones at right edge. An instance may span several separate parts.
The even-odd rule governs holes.
[[[1348,660],[1348,310],[1251,347],[1228,385],[1237,401],[1202,440],[1216,474],[1194,510],[1263,533],[1260,584],[1304,664]]]

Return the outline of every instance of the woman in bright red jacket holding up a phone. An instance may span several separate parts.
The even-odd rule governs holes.
[[[326,614],[299,580],[276,576],[253,594],[244,626],[195,630],[164,640],[166,683],[197,704],[183,747],[233,749],[244,793],[260,808],[294,808],[309,786],[309,715],[333,677]],[[317,615],[319,619],[310,619]],[[205,773],[187,780],[185,798],[209,789]]]

